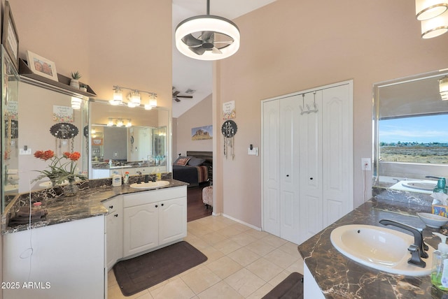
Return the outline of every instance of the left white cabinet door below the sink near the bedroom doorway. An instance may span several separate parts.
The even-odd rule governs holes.
[[[159,203],[126,207],[123,215],[123,256],[158,246]]]

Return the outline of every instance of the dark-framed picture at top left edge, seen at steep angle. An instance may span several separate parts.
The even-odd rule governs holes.
[[[15,69],[19,69],[19,36],[13,19],[13,13],[9,2],[5,1],[5,12],[3,15],[3,31],[1,32],[1,43],[13,61]]]

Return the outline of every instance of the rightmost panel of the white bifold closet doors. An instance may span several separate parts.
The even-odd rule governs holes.
[[[324,225],[353,210],[353,114],[351,86],[323,91]]]

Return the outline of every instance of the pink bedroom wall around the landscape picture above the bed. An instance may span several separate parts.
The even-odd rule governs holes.
[[[188,101],[188,99],[183,101]],[[174,103],[173,105],[176,104]],[[176,124],[174,123],[175,120]],[[176,136],[173,135],[173,139],[176,138],[177,143],[176,149],[173,147],[174,158],[177,154],[185,155],[190,150],[211,152],[213,150],[213,140],[191,140],[191,129],[210,124],[212,124],[211,95],[197,103],[197,105],[190,108],[180,117],[173,119],[173,126],[177,127]]]

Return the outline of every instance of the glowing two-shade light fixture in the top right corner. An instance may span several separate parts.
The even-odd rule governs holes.
[[[416,0],[415,14],[421,21],[422,38],[434,38],[448,31],[448,0]]]

